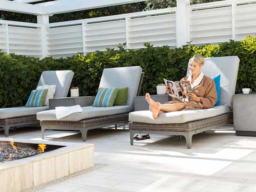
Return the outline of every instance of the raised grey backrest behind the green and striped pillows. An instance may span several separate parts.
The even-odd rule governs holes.
[[[104,69],[99,87],[129,87],[127,105],[133,110],[134,97],[137,96],[141,72],[140,66]]]

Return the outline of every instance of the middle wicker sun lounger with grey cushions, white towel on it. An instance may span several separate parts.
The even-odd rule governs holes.
[[[79,130],[82,140],[86,141],[87,131],[90,129],[127,123],[129,112],[134,110],[134,96],[140,94],[143,75],[142,68],[138,66],[104,69],[99,87],[129,87],[127,105],[92,107],[93,99],[88,97],[88,101],[91,101],[90,106],[82,107],[81,113],[57,119],[55,110],[39,112],[37,119],[41,122],[42,138],[46,129]]]

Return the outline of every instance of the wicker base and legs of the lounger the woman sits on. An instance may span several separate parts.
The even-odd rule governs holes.
[[[129,122],[130,140],[133,145],[134,134],[167,134],[183,135],[186,138],[187,148],[192,146],[192,136],[215,127],[233,123],[233,113],[227,113],[207,119],[177,124],[150,124],[141,122]]]

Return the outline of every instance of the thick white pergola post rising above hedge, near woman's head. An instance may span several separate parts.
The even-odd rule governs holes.
[[[189,41],[189,18],[187,6],[190,4],[189,0],[177,0],[176,7],[176,23],[177,23],[177,47],[185,45]]]

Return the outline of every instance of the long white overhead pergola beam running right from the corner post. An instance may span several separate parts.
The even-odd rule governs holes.
[[[75,12],[100,7],[116,6],[127,3],[137,3],[145,0],[58,0],[54,4],[46,6],[44,15]],[[41,4],[43,5],[43,3]]]

